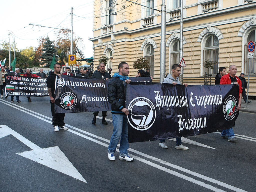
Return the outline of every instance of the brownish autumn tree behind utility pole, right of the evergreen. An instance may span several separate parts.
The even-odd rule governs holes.
[[[70,31],[68,29],[59,30],[55,35],[58,40],[54,42],[54,45],[57,48],[61,65],[65,65],[68,54],[70,54]],[[73,54],[78,58],[83,58],[84,56],[80,48],[83,48],[83,39],[81,37],[75,37],[73,33]]]

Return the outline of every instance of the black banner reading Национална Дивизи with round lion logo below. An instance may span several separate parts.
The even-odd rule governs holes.
[[[56,113],[109,111],[109,80],[73,77],[58,77],[55,91]]]

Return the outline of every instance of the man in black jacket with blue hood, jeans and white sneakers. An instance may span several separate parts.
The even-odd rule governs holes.
[[[127,115],[128,109],[125,108],[124,85],[130,83],[129,65],[126,62],[121,62],[118,65],[119,73],[115,73],[108,83],[108,101],[111,104],[112,123],[114,126],[113,134],[111,135],[108,146],[108,158],[110,161],[115,160],[114,153],[120,140],[119,159],[125,161],[133,161],[133,158],[128,155],[128,127]],[[121,138],[121,139],[120,139]]]

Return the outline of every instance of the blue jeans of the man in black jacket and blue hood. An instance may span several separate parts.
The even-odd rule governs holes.
[[[117,144],[120,140],[119,154],[121,156],[128,155],[128,126],[127,117],[125,114],[112,114],[112,123],[114,126],[113,134],[111,135],[108,152],[114,154],[116,151]]]

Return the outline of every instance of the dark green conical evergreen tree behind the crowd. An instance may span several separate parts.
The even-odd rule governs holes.
[[[48,67],[51,64],[53,55],[57,53],[57,49],[52,44],[53,42],[47,36],[43,44],[43,49],[42,49],[43,53],[40,56],[42,63],[47,64],[46,66]],[[56,57],[55,57],[55,61],[57,62]]]

